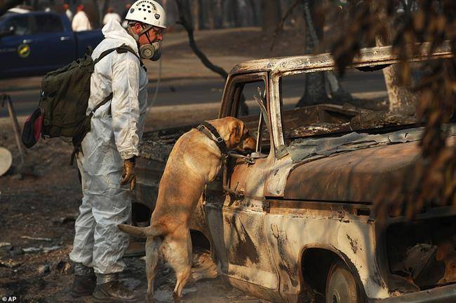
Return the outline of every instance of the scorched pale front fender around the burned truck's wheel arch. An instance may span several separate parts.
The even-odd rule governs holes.
[[[284,213],[272,205],[264,226],[281,276],[282,295],[295,297],[306,292],[297,265],[305,249],[325,247],[347,263],[368,297],[389,297],[375,258],[375,225],[368,217],[349,213],[341,217],[337,210]]]

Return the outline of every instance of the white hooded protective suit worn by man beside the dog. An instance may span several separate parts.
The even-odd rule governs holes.
[[[105,39],[93,50],[93,59],[122,44],[138,52],[136,41],[119,22],[111,20],[102,32]],[[81,143],[82,153],[77,155],[83,199],[69,258],[93,267],[97,274],[121,272],[125,267],[121,258],[129,238],[117,225],[130,223],[131,199],[128,185],[120,185],[120,181],[123,160],[138,155],[147,111],[147,81],[135,55],[116,51],[95,64],[90,78],[87,114],[111,92],[113,97],[95,111],[91,130]]]

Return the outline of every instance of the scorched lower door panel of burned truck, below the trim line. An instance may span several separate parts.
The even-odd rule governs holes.
[[[234,202],[229,196],[222,207],[206,204],[208,230],[222,274],[277,290],[279,279],[269,248],[264,245],[267,240],[261,209],[261,202]]]

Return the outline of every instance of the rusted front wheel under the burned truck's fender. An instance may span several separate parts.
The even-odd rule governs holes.
[[[343,262],[331,265],[326,279],[326,303],[362,303],[356,280]]]

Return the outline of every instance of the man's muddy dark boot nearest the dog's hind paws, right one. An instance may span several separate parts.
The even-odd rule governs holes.
[[[97,274],[97,287],[93,292],[95,302],[130,303],[140,297],[119,281],[118,274]]]

